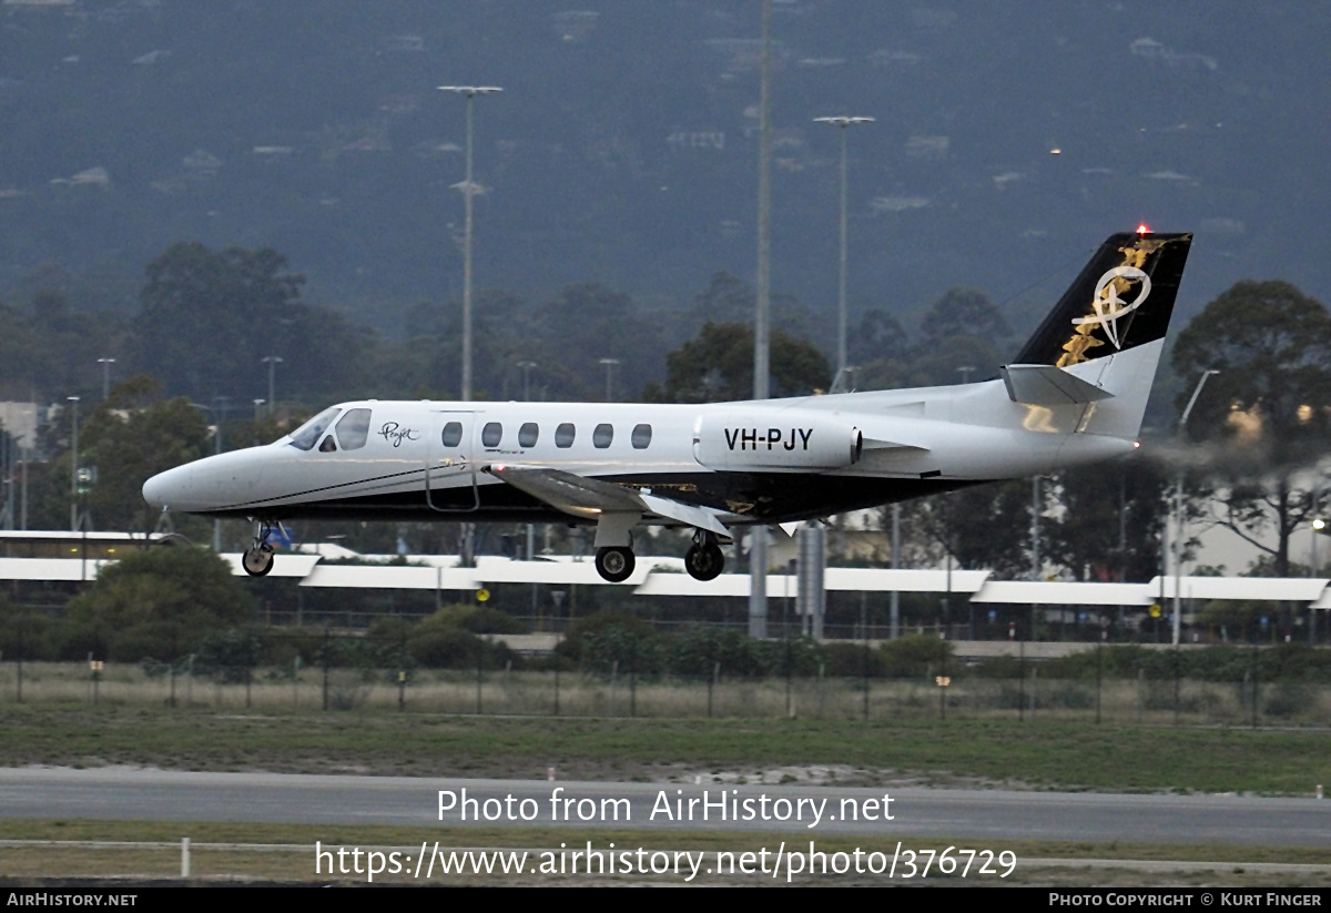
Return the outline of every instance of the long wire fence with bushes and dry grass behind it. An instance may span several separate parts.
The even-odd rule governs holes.
[[[587,626],[554,653],[500,635],[398,626],[385,635],[252,628],[137,663],[0,653],[0,701],[385,709],[523,716],[1059,719],[1150,725],[1331,724],[1331,655],[1300,645],[1091,647],[1058,659],[964,660],[949,643],[751,640]]]

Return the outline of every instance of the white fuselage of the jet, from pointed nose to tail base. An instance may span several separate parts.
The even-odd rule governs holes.
[[[347,402],[305,449],[297,431],[210,456],[153,476],[144,496],[265,520],[571,519],[486,471],[520,466],[721,511],[727,523],[825,516],[1131,450],[1162,345],[1065,369],[1107,398],[1063,406],[1014,402],[1000,379],[713,405]],[[354,410],[349,433],[339,422]]]

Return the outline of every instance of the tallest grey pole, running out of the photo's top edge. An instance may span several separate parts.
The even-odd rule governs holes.
[[[763,0],[763,64],[757,128],[757,294],[753,314],[753,398],[767,399],[771,385],[772,309],[772,0]],[[749,536],[751,638],[767,636],[767,527]]]

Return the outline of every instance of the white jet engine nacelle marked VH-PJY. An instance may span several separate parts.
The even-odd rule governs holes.
[[[839,470],[862,450],[860,429],[820,413],[708,413],[693,425],[693,459],[711,470]]]

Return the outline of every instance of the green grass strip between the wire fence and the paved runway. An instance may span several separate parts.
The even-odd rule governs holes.
[[[0,765],[668,780],[836,765],[841,783],[968,777],[1050,789],[1311,795],[1331,733],[1037,721],[663,720],[383,712],[0,709]],[[1272,763],[1279,759],[1279,763]],[[849,779],[845,779],[849,777]]]

